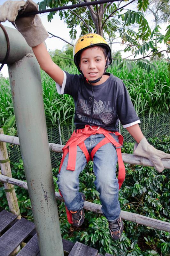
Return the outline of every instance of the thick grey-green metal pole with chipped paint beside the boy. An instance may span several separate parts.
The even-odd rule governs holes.
[[[23,55],[19,61],[8,64],[8,71],[40,254],[41,256],[63,256],[43,106],[40,67],[32,49],[27,46],[26,42],[23,42],[20,33],[15,29],[6,29],[10,38],[17,37],[15,46],[13,46],[14,42],[10,40],[10,45],[15,48],[13,55],[11,52],[13,60],[15,59],[14,56],[17,60],[18,55]],[[22,40],[22,44],[25,44],[24,47],[23,45],[21,47],[20,40]],[[5,45],[3,38],[2,41],[0,45]],[[0,56],[0,60],[2,61],[2,56]]]

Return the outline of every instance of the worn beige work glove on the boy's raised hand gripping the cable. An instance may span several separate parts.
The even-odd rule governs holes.
[[[23,12],[35,12],[38,10],[38,5],[32,0],[25,1],[6,1],[0,5],[0,22],[11,21],[18,31],[24,36],[27,44],[34,47],[44,42],[49,36],[44,28],[38,14],[28,17],[19,18]]]

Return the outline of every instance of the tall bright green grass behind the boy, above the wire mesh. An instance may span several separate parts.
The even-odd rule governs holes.
[[[151,115],[169,110],[170,86],[168,68],[165,61],[155,63],[157,72],[152,70],[147,74],[143,69],[134,65],[132,72],[126,68],[118,70],[111,67],[108,72],[120,77],[125,83],[135,110],[138,115]],[[75,66],[67,67],[66,71],[77,73]],[[48,126],[72,125],[74,116],[74,103],[69,95],[58,95],[55,82],[42,71],[43,100],[46,122]],[[0,77],[0,126],[5,120],[13,116],[13,105],[9,80]]]

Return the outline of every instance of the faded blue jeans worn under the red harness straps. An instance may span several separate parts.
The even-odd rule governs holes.
[[[118,141],[118,137],[112,134]],[[104,138],[103,134],[91,135],[84,142],[91,153],[92,149]],[[107,220],[116,220],[120,216],[120,203],[118,201],[119,185],[116,178],[117,153],[112,143],[107,143],[97,150],[93,158],[93,171],[96,176],[94,184],[100,194],[102,212]],[[83,208],[84,201],[79,192],[79,175],[84,170],[87,161],[84,153],[77,146],[75,171],[66,170],[68,154],[65,157],[60,173],[58,174],[58,187],[70,211]]]

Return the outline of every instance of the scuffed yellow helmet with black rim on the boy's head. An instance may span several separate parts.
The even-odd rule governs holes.
[[[86,34],[84,36],[81,36],[77,40],[73,48],[74,63],[80,72],[81,70],[79,67],[79,61],[80,61],[81,51],[95,45],[99,45],[99,46],[101,45],[107,49],[108,55],[107,55],[107,61],[106,61],[106,68],[112,63],[111,49],[107,44],[107,42],[104,40],[104,38],[98,34],[92,34],[92,33]]]

